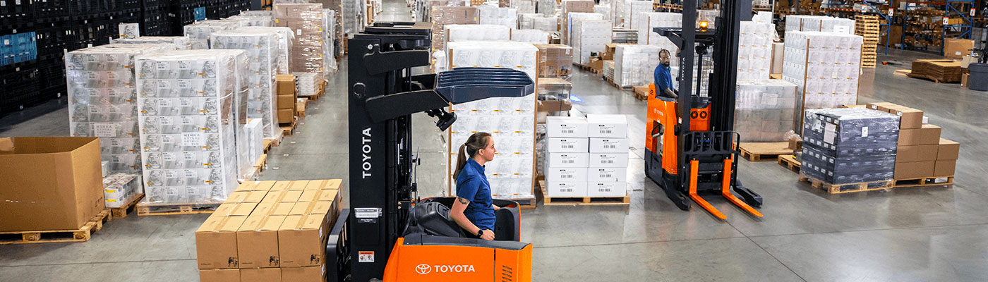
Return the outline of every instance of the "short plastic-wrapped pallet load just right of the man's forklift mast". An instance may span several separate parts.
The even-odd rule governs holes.
[[[783,142],[792,130],[796,85],[781,79],[738,80],[734,131],[744,142]]]

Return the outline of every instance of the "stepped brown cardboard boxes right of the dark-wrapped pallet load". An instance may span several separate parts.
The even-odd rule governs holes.
[[[923,110],[891,103],[866,107],[899,116],[895,179],[953,176],[960,144],[941,138],[941,127],[927,123]]]

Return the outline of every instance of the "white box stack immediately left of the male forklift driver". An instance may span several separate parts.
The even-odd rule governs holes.
[[[617,45],[614,81],[620,87],[648,85],[654,82],[659,65],[659,47],[651,45]]]

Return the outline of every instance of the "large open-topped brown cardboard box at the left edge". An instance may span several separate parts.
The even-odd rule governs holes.
[[[0,138],[0,231],[77,230],[105,208],[95,137]]]

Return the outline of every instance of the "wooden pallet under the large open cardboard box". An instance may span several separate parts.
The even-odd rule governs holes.
[[[110,214],[110,210],[100,211],[76,230],[0,232],[0,245],[86,242],[92,238],[93,232],[103,229],[103,223],[110,220]]]

